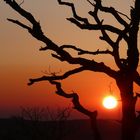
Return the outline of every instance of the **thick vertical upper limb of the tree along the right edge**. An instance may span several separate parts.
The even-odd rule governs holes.
[[[128,69],[136,71],[139,63],[138,31],[140,24],[140,2],[135,0],[134,8],[131,9],[131,24],[129,29],[129,41],[127,50]]]

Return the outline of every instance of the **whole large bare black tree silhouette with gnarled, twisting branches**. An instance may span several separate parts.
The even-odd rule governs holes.
[[[89,11],[89,15],[94,19],[94,23],[91,23],[88,18],[79,16],[76,12],[74,3],[63,2],[58,0],[60,5],[68,6],[71,8],[72,17],[68,18],[71,23],[76,25],[82,30],[96,30],[101,32],[100,39],[108,43],[111,49],[97,51],[88,51],[78,48],[73,45],[57,45],[47,35],[44,35],[40,23],[34,18],[34,16],[25,11],[21,4],[18,4],[15,0],[4,0],[12,9],[18,12],[22,17],[27,19],[32,26],[28,26],[18,20],[8,19],[20,27],[26,29],[34,38],[45,43],[45,47],[41,47],[40,51],[51,50],[52,57],[66,61],[71,65],[78,64],[73,70],[69,70],[66,73],[59,75],[53,73],[53,75],[42,76],[36,79],[30,79],[29,85],[36,82],[49,81],[51,84],[56,86],[56,94],[65,98],[72,98],[74,108],[78,111],[86,114],[91,119],[91,124],[96,140],[100,140],[99,131],[96,125],[97,111],[89,111],[84,108],[79,102],[79,96],[77,93],[66,93],[61,85],[61,80],[67,77],[85,71],[102,72],[109,77],[115,79],[116,84],[120,90],[120,96],[122,101],[122,140],[134,140],[137,130],[139,129],[139,116],[136,116],[135,105],[137,98],[140,94],[135,93],[133,84],[140,85],[140,75],[137,71],[139,63],[139,51],[138,51],[138,31],[140,22],[140,1],[135,0],[133,7],[130,7],[130,15],[125,15],[117,11],[114,7],[106,7],[102,4],[101,0],[87,0],[93,6],[93,10]],[[22,2],[23,3],[23,2]],[[100,18],[100,13],[111,14],[116,22],[120,25],[115,27],[110,24],[105,24],[104,20]],[[112,39],[110,33],[116,35],[115,39]],[[121,58],[120,47],[121,42],[126,43],[126,57]],[[124,46],[123,46],[124,47]],[[72,56],[68,52],[68,49],[73,49],[78,53],[78,57]],[[83,54],[89,55],[111,55],[116,63],[118,70],[108,67],[104,62],[96,62],[88,58],[83,58]]]

